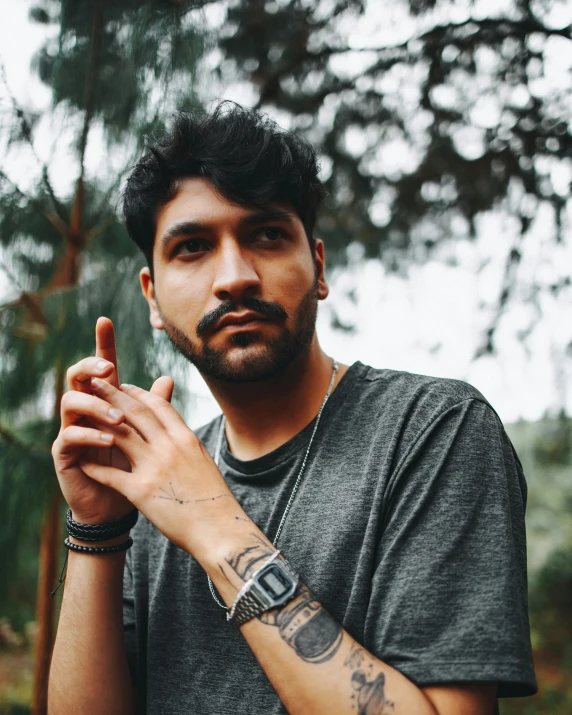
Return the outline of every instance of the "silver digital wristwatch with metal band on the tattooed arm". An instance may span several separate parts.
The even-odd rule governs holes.
[[[296,574],[286,561],[276,561],[280,551],[275,551],[256,570],[240,589],[226,614],[227,621],[235,620],[239,626],[294,597],[298,586]]]

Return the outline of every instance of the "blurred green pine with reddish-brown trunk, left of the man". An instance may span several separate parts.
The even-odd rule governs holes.
[[[110,162],[119,155],[125,171],[169,109],[198,106],[193,72],[206,38],[197,15],[203,4],[43,0],[30,12],[33,21],[57,30],[34,69],[52,91],[51,114],[64,127],[56,148],[71,147],[75,174],[69,193],[58,195],[47,165],[39,166],[31,189],[0,169],[2,269],[14,291],[0,308],[0,569],[8,582],[15,580],[22,548],[37,541],[41,524],[36,715],[46,712],[54,640],[49,594],[63,550],[50,449],[66,369],[93,352],[102,314],[118,327],[122,378],[150,386],[157,369],[143,301],[134,293],[141,259],[115,206],[122,172],[90,171],[88,144],[95,132]],[[0,124],[6,156],[26,148],[37,158],[43,117],[19,106],[3,72],[1,79],[10,107]],[[4,598],[10,595],[7,589]]]

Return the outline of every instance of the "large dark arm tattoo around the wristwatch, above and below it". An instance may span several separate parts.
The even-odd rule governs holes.
[[[274,548],[254,536],[253,545],[227,559],[243,581],[248,581]],[[325,663],[337,653],[343,629],[321,606],[307,586],[299,584],[294,598],[283,606],[261,613],[257,618],[278,628],[280,637],[308,663]],[[368,713],[369,715],[369,713]]]

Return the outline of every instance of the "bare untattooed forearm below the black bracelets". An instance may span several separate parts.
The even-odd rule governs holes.
[[[123,535],[105,545],[125,539]],[[135,712],[123,637],[124,565],[125,552],[70,551],[50,668],[48,715]]]

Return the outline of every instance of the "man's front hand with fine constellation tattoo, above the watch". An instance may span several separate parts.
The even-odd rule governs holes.
[[[213,545],[222,545],[229,533],[244,524],[253,526],[212,457],[167,400],[133,385],[117,389],[101,379],[92,380],[92,389],[100,398],[100,409],[114,407],[125,415],[109,430],[131,469],[104,466],[86,457],[79,462],[86,474],[124,494],[199,562],[209,558]]]

